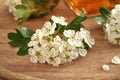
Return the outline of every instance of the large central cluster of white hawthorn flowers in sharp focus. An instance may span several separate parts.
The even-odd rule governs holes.
[[[52,16],[51,20],[45,22],[43,28],[37,29],[31,37],[31,41],[28,43],[30,61],[59,66],[69,63],[79,56],[86,56],[85,47],[92,48],[94,45],[90,32],[82,27],[79,31],[64,29],[58,33],[59,27],[67,26],[65,18]],[[57,26],[59,27],[57,28]]]

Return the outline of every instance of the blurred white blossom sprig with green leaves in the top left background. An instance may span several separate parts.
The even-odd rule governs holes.
[[[15,20],[23,23],[29,17],[44,17],[48,15],[59,3],[59,0],[6,0],[9,12],[13,13]]]

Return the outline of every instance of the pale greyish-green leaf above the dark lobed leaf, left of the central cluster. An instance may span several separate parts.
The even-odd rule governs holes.
[[[35,32],[27,29],[25,27],[18,27],[18,30],[20,31],[20,33],[23,35],[23,37],[31,37]]]

